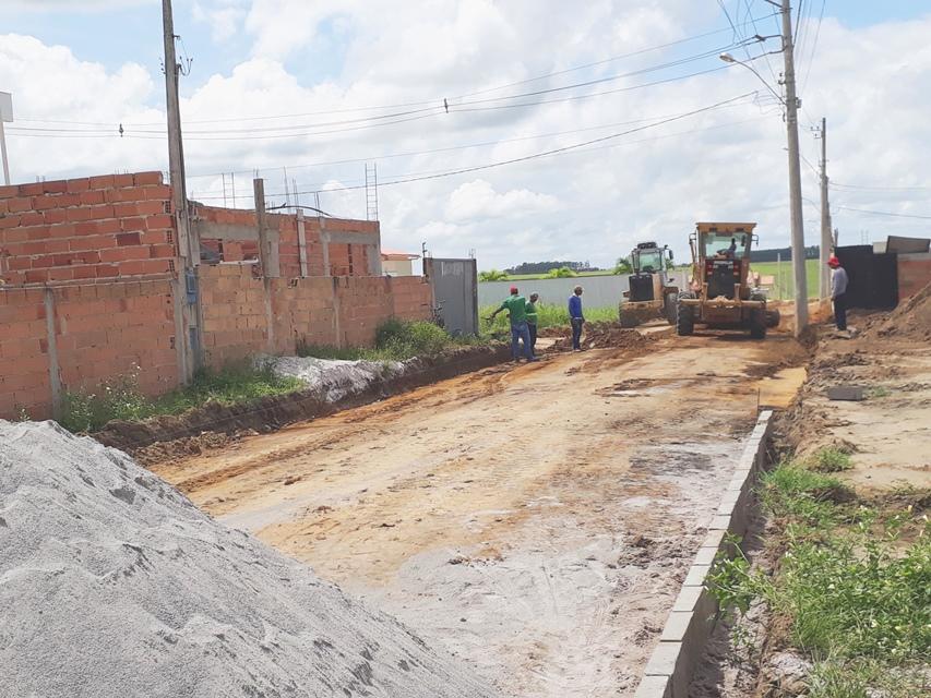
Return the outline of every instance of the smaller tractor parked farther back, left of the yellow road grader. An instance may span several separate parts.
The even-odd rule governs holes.
[[[633,274],[629,277],[630,290],[618,305],[618,320],[622,327],[635,327],[656,317],[676,324],[676,299],[679,288],[670,286],[672,250],[659,248],[655,242],[641,242],[631,252]]]

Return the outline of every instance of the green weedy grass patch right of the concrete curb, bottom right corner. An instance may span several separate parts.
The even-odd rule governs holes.
[[[747,613],[763,602],[788,621],[787,643],[814,663],[807,695],[866,698],[882,688],[911,697],[931,657],[931,528],[911,507],[857,503],[812,469],[848,462],[842,456],[822,449],[765,474],[761,502],[783,525],[777,573],[752,570],[741,553],[721,556],[708,587],[724,609]]]

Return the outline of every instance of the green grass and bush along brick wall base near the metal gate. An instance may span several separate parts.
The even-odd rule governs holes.
[[[414,357],[434,357],[454,347],[474,346],[484,341],[478,337],[452,337],[432,323],[392,318],[378,326],[374,347],[336,348],[299,341],[297,354],[347,361],[406,361]]]

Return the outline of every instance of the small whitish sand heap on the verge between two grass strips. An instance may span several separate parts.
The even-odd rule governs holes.
[[[401,361],[343,361],[313,357],[263,357],[278,375],[300,378],[327,402],[359,395],[377,381],[402,375]]]

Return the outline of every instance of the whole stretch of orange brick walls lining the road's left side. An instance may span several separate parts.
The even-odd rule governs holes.
[[[195,272],[208,365],[301,339],[368,345],[390,316],[429,317],[423,279],[373,275],[377,221],[268,215],[260,267],[254,212],[193,210],[218,262]],[[51,417],[64,392],[134,366],[148,395],[179,384],[191,296],[177,240],[159,172],[0,186],[0,418]]]

